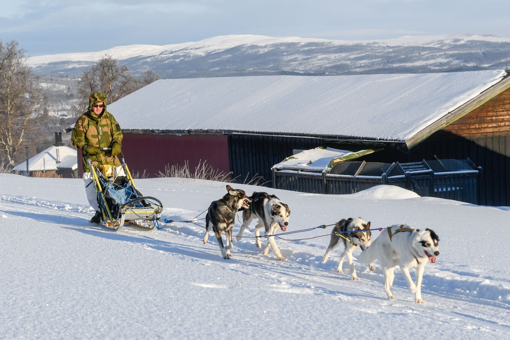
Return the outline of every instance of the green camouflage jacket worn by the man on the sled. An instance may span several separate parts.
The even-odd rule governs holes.
[[[82,151],[89,145],[110,147],[115,142],[122,146],[123,135],[120,125],[115,117],[107,111],[106,106],[98,116],[92,110],[92,104],[94,103],[104,102],[106,104],[106,98],[102,101],[99,101],[99,99],[91,95],[89,110],[78,118],[72,130],[71,143]],[[120,165],[117,156],[112,157],[110,151],[101,152],[98,155],[90,155],[90,160],[94,166],[100,164]],[[83,153],[83,171],[90,172],[85,152]]]

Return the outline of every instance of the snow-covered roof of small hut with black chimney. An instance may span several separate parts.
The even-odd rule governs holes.
[[[29,171],[52,171],[57,168],[76,170],[78,168],[77,151],[65,145],[54,145],[29,159]],[[13,170],[26,171],[27,162],[16,165]]]

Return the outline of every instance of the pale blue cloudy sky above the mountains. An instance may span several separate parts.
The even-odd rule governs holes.
[[[510,37],[507,0],[0,0],[0,9],[0,40],[16,40],[29,57],[240,34]]]

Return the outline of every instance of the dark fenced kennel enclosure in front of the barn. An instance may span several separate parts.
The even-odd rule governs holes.
[[[408,164],[353,161],[343,162],[330,172],[275,169],[274,184],[276,189],[335,195],[386,184],[420,196],[478,204],[478,177],[478,168],[469,159]]]

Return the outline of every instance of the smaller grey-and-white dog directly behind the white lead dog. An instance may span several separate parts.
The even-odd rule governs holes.
[[[372,233],[370,231],[366,231],[366,229],[370,229],[370,222],[365,222],[360,217],[356,219],[348,218],[347,220],[341,219],[335,223],[335,228],[331,231],[331,241],[329,241],[326,253],[322,257],[322,263],[326,263],[329,258],[329,252],[339,244],[341,239],[344,244],[344,252],[340,256],[337,272],[340,274],[343,273],[342,264],[345,257],[347,257],[352,279],[359,280],[358,275],[356,275],[356,270],[354,269],[354,264],[352,263],[352,252],[354,249],[358,248],[358,246],[362,251],[366,250],[370,246]],[[370,264],[369,268],[370,270],[375,270],[373,264]]]

